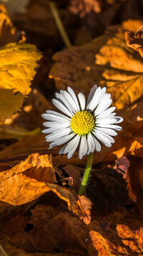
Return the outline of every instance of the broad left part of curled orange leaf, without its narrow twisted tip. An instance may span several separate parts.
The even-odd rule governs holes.
[[[46,182],[53,183],[56,178],[51,158],[33,154],[11,170],[1,172],[0,180],[0,201],[16,206],[33,201],[49,191]]]

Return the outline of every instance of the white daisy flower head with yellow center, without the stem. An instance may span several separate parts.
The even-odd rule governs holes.
[[[59,154],[67,154],[69,159],[79,147],[79,159],[96,150],[101,150],[100,142],[111,147],[114,143],[113,136],[120,131],[122,117],[116,116],[112,104],[111,94],[106,93],[106,88],[94,86],[90,91],[87,104],[84,94],[77,96],[68,87],[67,91],[56,93],[52,99],[54,106],[63,114],[47,110],[42,117],[44,122],[42,132],[46,135],[46,142],[51,142],[49,148],[64,144]]]

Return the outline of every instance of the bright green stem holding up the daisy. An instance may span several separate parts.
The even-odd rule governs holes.
[[[78,193],[79,196],[83,195],[84,190],[87,186],[87,181],[89,179],[90,170],[92,168],[92,160],[93,160],[93,153],[90,153],[88,158],[87,158],[87,165],[86,165],[86,168],[85,168],[85,171],[84,171],[84,177],[82,178],[82,183],[81,183],[81,186],[79,188],[79,193]]]

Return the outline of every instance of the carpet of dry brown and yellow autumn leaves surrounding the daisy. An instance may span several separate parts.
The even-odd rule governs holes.
[[[29,1],[29,9],[24,6],[22,14],[21,6],[14,13],[15,7],[7,3],[18,29],[4,5],[0,6],[0,255],[143,255],[142,20],[124,22],[122,11],[122,24],[117,24],[113,17],[127,1],[103,2],[104,9],[102,1],[85,1],[85,6],[82,1],[59,1],[69,35],[77,22],[77,34],[81,26],[84,32],[89,26],[92,41],[87,43],[83,37],[80,46],[64,50],[59,46],[58,52],[59,35],[46,1]],[[31,9],[36,10],[38,22]],[[96,15],[96,22],[103,17],[104,22],[94,32]],[[26,31],[28,44],[19,29]],[[93,38],[95,33],[99,36]],[[50,38],[51,50],[41,38]],[[39,65],[45,68],[38,73],[41,53],[37,48],[43,51]],[[56,52],[54,63],[49,60],[47,68],[51,52]],[[6,68],[9,72],[4,74]],[[38,83],[31,86],[35,74]],[[44,86],[42,81],[46,81]],[[102,154],[94,154],[87,191],[77,196],[87,158],[79,162],[76,152],[67,160],[58,154],[59,147],[48,150],[40,134],[41,114],[55,110],[54,91],[71,86],[87,95],[94,83],[106,86],[112,94],[117,114],[124,118],[123,130],[112,148],[103,146]]]

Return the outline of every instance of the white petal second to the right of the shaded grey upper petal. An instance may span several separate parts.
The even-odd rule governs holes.
[[[112,99],[110,99],[110,97],[111,95],[107,93],[103,96],[102,101],[100,101],[97,109],[94,111],[95,116],[97,116],[97,114],[103,113],[103,111],[112,104]]]

